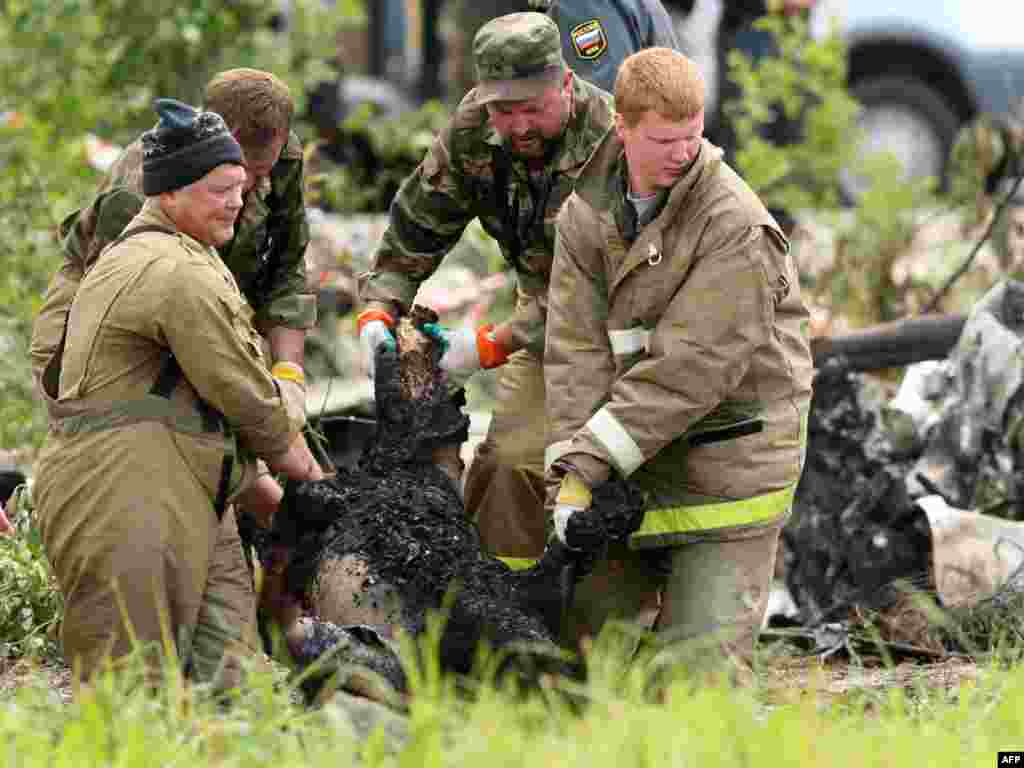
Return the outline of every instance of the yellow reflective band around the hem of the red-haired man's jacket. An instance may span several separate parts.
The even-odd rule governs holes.
[[[742,499],[737,502],[699,504],[693,507],[665,507],[647,510],[643,524],[630,539],[636,541],[648,536],[667,536],[691,530],[726,528],[768,522],[785,514],[797,493],[794,483],[781,490]]]

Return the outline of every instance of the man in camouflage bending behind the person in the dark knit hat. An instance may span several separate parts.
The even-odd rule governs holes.
[[[246,163],[245,205],[234,237],[217,252],[255,310],[254,323],[272,359],[301,368],[305,333],[316,321],[316,297],[306,285],[309,229],[302,145],[290,130],[291,93],[270,73],[238,69],[215,76],[205,101],[227,122]],[[37,380],[60,341],[82,278],[142,203],[142,148],[136,140],[115,163],[92,204],[60,225],[65,261],[50,282],[32,338]]]

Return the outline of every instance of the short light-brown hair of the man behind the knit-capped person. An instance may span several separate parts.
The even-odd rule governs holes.
[[[240,68],[214,76],[205,108],[218,113],[243,148],[265,146],[287,136],[295,101],[284,81],[262,70]]]

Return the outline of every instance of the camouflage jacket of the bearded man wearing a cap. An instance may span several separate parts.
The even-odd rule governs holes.
[[[397,302],[408,309],[420,284],[479,217],[516,270],[513,338],[541,354],[555,217],[612,123],[607,93],[574,78],[572,94],[572,114],[558,151],[532,178],[526,163],[504,147],[475,90],[466,94],[398,190],[371,269],[360,276],[360,299]]]

